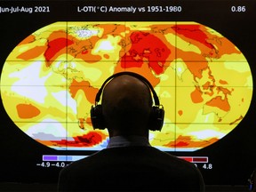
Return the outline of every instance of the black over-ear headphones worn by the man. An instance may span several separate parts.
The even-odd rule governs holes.
[[[101,92],[103,91],[105,85],[110,80],[114,79],[116,76],[123,76],[123,75],[134,76],[148,86],[149,90],[153,94],[153,99],[154,99],[154,106],[152,106],[148,129],[150,131],[161,131],[162,126],[164,124],[164,107],[162,105],[160,105],[158,97],[156,95],[156,92],[155,92],[152,84],[150,84],[148,82],[148,79],[146,79],[144,76],[140,76],[139,74],[136,74],[133,72],[128,72],[128,71],[116,73],[113,76],[109,76],[106,79],[106,81],[101,85],[100,90],[96,94],[96,97],[95,97],[95,107],[92,106],[92,108],[91,108],[91,121],[92,121],[93,129],[104,130],[106,128],[106,124],[104,122],[104,117],[102,114],[102,106],[98,105],[98,102],[100,101]]]

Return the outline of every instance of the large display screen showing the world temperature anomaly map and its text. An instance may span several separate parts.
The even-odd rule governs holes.
[[[255,9],[249,0],[1,1],[1,180],[56,182],[61,168],[106,148],[90,109],[108,76],[132,71],[165,110],[150,144],[196,164],[205,184],[246,185],[256,166]]]

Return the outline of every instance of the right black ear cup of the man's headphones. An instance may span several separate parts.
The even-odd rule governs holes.
[[[161,131],[163,124],[164,124],[164,108],[153,106],[150,120],[149,120],[149,130]]]

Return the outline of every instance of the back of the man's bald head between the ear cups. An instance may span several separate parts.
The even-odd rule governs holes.
[[[123,75],[110,80],[104,87],[101,101],[109,136],[148,137],[152,104],[148,85],[139,78]]]

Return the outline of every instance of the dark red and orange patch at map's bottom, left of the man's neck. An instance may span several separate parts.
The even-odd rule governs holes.
[[[73,137],[74,140],[50,140],[53,146],[56,147],[93,147],[106,140],[107,136],[101,132],[88,132],[82,136]],[[40,140],[40,142],[45,142]],[[49,142],[49,141],[48,141]]]

